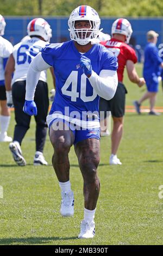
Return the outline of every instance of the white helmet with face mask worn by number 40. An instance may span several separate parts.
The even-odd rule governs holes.
[[[89,21],[91,27],[89,29],[76,29],[76,21]],[[93,8],[88,5],[81,5],[72,11],[68,20],[70,38],[77,41],[79,45],[86,45],[97,38],[100,23],[98,13]]]

